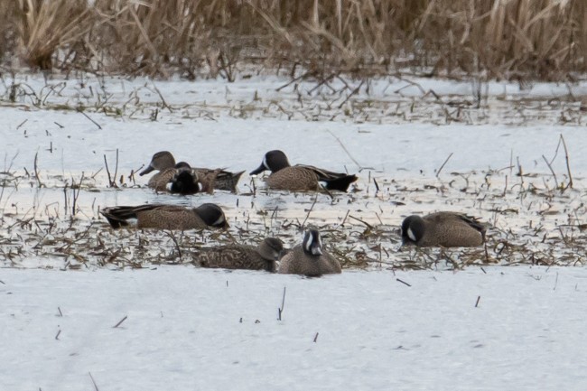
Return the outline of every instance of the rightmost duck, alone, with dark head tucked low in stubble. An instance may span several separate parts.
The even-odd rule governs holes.
[[[485,242],[478,219],[454,212],[409,216],[402,222],[402,243],[419,247],[476,247]]]

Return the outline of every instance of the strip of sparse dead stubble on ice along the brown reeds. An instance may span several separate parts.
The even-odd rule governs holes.
[[[139,84],[135,80],[126,80],[121,82],[126,89],[120,91],[108,84],[111,79],[87,73],[78,76],[79,79],[57,81],[41,76],[34,79],[27,75],[0,75],[0,106],[77,112],[98,129],[100,116],[92,113],[154,122],[178,112],[184,118],[206,120],[226,115],[239,119],[268,117],[352,121],[357,124],[480,125],[499,121],[511,126],[545,123],[581,126],[587,120],[587,101],[584,101],[581,89],[568,83],[565,84],[568,93],[556,98],[526,97],[524,93],[487,94],[478,105],[472,95],[443,95],[441,91],[424,88],[406,77],[400,77],[399,82],[396,77],[363,82],[348,75],[338,75],[319,82],[285,82],[276,88],[279,90],[278,99],[273,88],[255,89],[247,96],[220,83],[210,86],[210,93],[217,97],[216,101],[208,101],[203,93],[199,93],[190,102],[173,103],[172,97],[165,96],[169,92],[163,93],[157,87],[159,81]],[[402,84],[403,87],[398,88]],[[182,91],[191,93],[189,86],[189,83],[182,84]],[[360,93],[357,93],[359,89]],[[377,92],[371,94],[370,90]],[[378,92],[381,90],[384,93]],[[334,136],[332,141],[338,143]],[[563,152],[564,144],[560,153]],[[352,156],[349,158],[353,159]]]

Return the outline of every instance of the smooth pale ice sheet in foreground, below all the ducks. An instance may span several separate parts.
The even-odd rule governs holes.
[[[584,389],[585,269],[484,270],[3,269],[0,386]]]

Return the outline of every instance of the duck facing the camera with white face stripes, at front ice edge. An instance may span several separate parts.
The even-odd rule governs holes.
[[[332,275],[341,271],[340,262],[322,249],[320,232],[314,228],[306,230],[302,245],[293,247],[279,265],[279,273],[286,275]]]

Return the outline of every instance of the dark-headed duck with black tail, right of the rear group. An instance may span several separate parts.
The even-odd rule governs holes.
[[[329,191],[347,191],[352,182],[357,181],[356,175],[330,172],[312,165],[290,165],[287,156],[282,151],[269,151],[263,158],[263,163],[250,174],[255,175],[269,170],[271,174],[266,178],[267,186],[275,190],[288,191],[315,191],[320,190],[320,183],[325,183]]]

